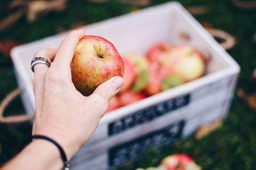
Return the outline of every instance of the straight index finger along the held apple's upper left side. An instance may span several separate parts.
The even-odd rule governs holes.
[[[72,31],[68,34],[68,36],[62,41],[60,48],[56,53],[53,67],[58,67],[61,70],[67,70],[67,67],[70,67],[76,45],[84,34],[84,29]]]

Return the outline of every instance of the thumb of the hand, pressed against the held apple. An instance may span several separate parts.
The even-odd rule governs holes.
[[[117,94],[123,84],[123,78],[120,76],[115,76],[99,85],[99,87],[94,90],[92,96],[100,96],[104,100],[109,101],[113,96]]]

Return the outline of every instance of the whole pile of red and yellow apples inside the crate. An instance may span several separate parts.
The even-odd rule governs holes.
[[[125,55],[124,86],[109,101],[108,111],[140,101],[202,76],[204,57],[188,45],[159,43],[146,55]]]

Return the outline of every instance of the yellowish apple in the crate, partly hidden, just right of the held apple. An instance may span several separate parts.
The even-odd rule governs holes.
[[[144,55],[130,54],[126,55],[126,58],[133,64],[138,74],[140,74],[141,71],[147,70],[148,60]]]

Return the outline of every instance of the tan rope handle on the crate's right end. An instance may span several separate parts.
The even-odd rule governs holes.
[[[220,29],[207,29],[207,31],[213,37],[224,39],[225,41],[223,41],[223,43],[220,43],[220,45],[226,50],[232,48],[236,43],[236,39],[234,38],[234,36],[228,34],[225,31],[222,31]]]

